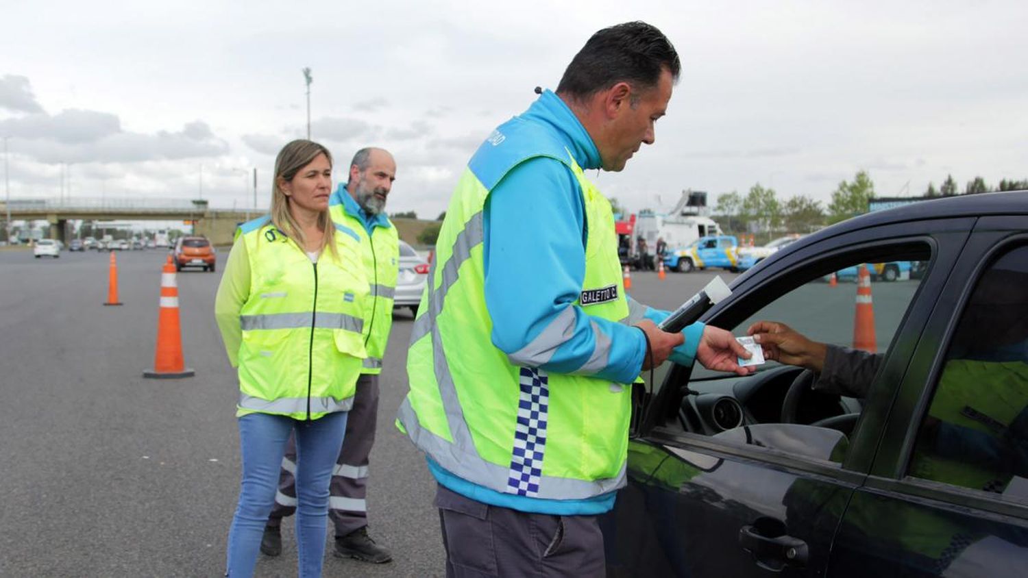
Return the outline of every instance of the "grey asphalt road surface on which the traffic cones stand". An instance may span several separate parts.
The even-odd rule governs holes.
[[[213,316],[222,268],[178,277],[184,354],[195,377],[143,379],[153,363],[164,255],[117,254],[124,305],[104,307],[106,253],[64,252],[57,260],[0,253],[0,576],[223,573],[240,457],[235,375]],[[635,272],[631,293],[673,309],[714,274],[735,277],[706,271],[658,281]],[[849,311],[852,296],[839,293]],[[444,574],[434,481],[393,427],[406,392],[411,320],[407,310],[396,313],[368,497],[372,536],[394,562],[329,554],[327,576]],[[295,575],[291,524],[283,538],[283,555],[262,556],[259,576]]]

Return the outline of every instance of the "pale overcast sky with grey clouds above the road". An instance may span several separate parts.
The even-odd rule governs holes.
[[[595,177],[631,209],[683,189],[827,201],[867,169],[879,196],[952,174],[1028,178],[1028,3],[3,1],[0,137],[12,197],[270,195],[311,132],[345,178],[365,145],[399,164],[390,211],[434,218],[477,145],[555,88],[596,30],[658,26],[683,61],[657,143]],[[67,164],[70,163],[70,164]],[[339,170],[342,168],[342,170]]]

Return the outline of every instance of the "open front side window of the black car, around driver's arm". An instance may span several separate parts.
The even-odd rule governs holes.
[[[782,288],[776,290],[776,298],[751,294],[750,303],[742,307],[755,312],[725,329],[745,336],[758,321],[781,322],[831,348],[831,362],[814,374],[769,360],[742,378],[697,363],[682,404],[683,426],[726,442],[841,463],[858,423],[861,399],[917,295],[929,256],[929,246],[921,243],[854,249],[804,264],[787,281],[779,281]],[[853,275],[841,274],[848,270]],[[738,425],[729,402],[721,402],[721,416],[709,407],[718,396],[738,402]],[[730,419],[722,419],[726,416]]]

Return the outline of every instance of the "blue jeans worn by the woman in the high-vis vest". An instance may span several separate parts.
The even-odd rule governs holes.
[[[253,576],[264,526],[274,505],[286,441],[294,430],[298,574],[300,578],[321,576],[329,483],[346,431],[346,412],[328,414],[314,421],[248,414],[238,422],[243,481],[228,532],[226,576]]]

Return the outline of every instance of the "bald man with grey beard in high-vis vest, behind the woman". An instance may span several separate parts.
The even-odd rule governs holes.
[[[364,359],[357,381],[354,407],[346,421],[345,442],[332,473],[329,517],[335,526],[335,550],[339,557],[381,564],[393,558],[389,549],[368,536],[367,481],[371,447],[378,416],[378,374],[393,325],[393,295],[400,259],[396,227],[386,217],[386,200],[396,180],[396,161],[388,151],[364,148],[350,165],[350,181],[340,184],[329,200],[336,234],[354,237],[361,245],[369,291],[364,314]],[[295,509],[293,464],[289,447],[283,460],[279,493],[261,542],[261,551],[282,551],[279,532],[283,516]]]

